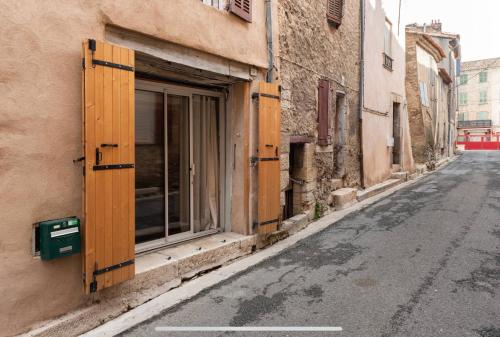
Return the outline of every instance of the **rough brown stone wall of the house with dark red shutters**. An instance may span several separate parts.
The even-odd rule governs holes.
[[[302,211],[328,209],[332,179],[343,179],[344,186],[360,182],[359,167],[359,1],[345,1],[344,18],[339,27],[328,23],[327,2],[279,1],[280,75],[282,83],[282,133],[307,136],[309,141],[300,146],[303,153],[301,169],[296,177],[303,184],[294,186],[301,194]],[[332,144],[317,145],[318,83],[330,82],[330,134]],[[337,100],[337,94],[345,93]],[[336,102],[345,102],[337,107]],[[337,123],[336,112],[340,120]],[[342,124],[342,125],[340,125]],[[284,145],[288,150],[287,145]],[[300,152],[299,151],[299,152]],[[287,152],[282,151],[286,156]],[[339,168],[341,157],[343,167]],[[282,158],[283,159],[283,158]],[[286,172],[285,172],[286,171]],[[288,167],[282,176],[289,174]],[[295,174],[295,173],[294,173]],[[287,179],[285,179],[287,180]],[[288,181],[282,182],[282,188]],[[283,186],[284,185],[284,186]],[[297,204],[294,198],[294,204]],[[282,197],[284,203],[284,197]],[[319,203],[317,207],[315,205]]]

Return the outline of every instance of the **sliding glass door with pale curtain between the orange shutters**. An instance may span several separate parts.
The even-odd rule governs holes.
[[[136,87],[136,243],[217,231],[222,96],[144,81]]]

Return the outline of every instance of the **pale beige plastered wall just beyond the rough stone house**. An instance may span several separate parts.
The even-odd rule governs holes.
[[[397,35],[397,17],[389,17],[392,26],[393,71],[383,67],[386,13],[393,13],[397,3],[366,1],[365,11],[365,83],[363,106],[363,164],[365,186],[388,179],[392,173],[393,102],[401,104],[402,163],[413,169],[405,95],[404,33]],[[396,11],[397,12],[397,11]]]

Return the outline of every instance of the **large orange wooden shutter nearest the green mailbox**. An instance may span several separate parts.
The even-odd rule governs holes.
[[[134,277],[134,51],[83,43],[84,288]]]

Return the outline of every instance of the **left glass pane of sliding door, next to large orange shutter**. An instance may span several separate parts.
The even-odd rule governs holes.
[[[135,91],[135,242],[165,237],[164,94]]]

